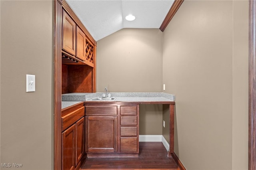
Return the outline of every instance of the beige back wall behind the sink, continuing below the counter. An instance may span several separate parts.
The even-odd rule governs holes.
[[[161,92],[162,32],[122,29],[97,42],[96,91]],[[140,134],[162,134],[162,106],[140,105]]]

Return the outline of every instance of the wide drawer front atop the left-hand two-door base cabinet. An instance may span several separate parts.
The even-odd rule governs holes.
[[[62,131],[70,127],[84,116],[84,106],[62,117]]]

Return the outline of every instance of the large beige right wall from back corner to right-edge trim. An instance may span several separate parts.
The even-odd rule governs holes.
[[[164,31],[163,83],[185,168],[248,169],[248,2],[185,0]]]

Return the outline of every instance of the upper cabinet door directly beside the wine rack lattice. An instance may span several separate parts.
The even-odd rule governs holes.
[[[84,32],[76,26],[76,57],[85,61],[86,54],[85,54],[85,34]]]

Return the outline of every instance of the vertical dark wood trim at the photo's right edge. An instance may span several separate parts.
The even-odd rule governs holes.
[[[249,148],[248,169],[256,169],[256,0],[249,0]]]

